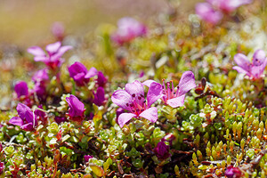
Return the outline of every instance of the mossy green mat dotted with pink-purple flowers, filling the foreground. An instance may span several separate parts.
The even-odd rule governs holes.
[[[220,14],[252,3],[207,2]],[[267,20],[263,3],[247,6]],[[267,49],[248,45],[263,21],[251,35],[247,20],[166,17],[157,28],[123,18],[79,46],[55,24],[60,41],[29,47],[44,68],[0,111],[0,177],[266,177]],[[95,61],[73,61],[88,46]]]

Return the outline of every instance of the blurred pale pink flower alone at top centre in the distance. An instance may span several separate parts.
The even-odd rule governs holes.
[[[111,39],[117,44],[130,42],[135,37],[144,36],[148,29],[139,21],[130,17],[125,17],[117,22],[117,31],[111,36]]]

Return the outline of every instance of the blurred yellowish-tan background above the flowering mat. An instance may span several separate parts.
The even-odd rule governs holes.
[[[112,3],[111,3],[112,2]],[[22,48],[44,42],[52,36],[54,21],[61,21],[67,34],[85,36],[101,23],[116,25],[131,16],[145,22],[180,4],[179,12],[193,12],[198,0],[1,0],[0,44]]]

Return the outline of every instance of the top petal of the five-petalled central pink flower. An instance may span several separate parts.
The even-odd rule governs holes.
[[[135,80],[131,84],[126,84],[125,85],[125,91],[127,93],[131,94],[131,96],[133,96],[133,98],[135,98],[135,100],[137,100],[137,101],[138,101],[138,97],[140,97],[140,96],[142,96],[142,98],[144,97],[143,85],[138,80]]]

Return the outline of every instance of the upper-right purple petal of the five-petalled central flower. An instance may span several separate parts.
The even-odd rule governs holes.
[[[155,101],[157,101],[162,96],[162,85],[153,82],[150,85],[150,89],[147,95],[148,99],[148,107],[150,107],[151,104],[153,104]]]

